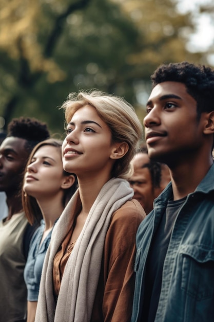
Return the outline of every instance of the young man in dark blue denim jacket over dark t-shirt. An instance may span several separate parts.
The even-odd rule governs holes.
[[[171,183],[137,232],[132,322],[214,319],[214,70],[188,62],[151,76],[148,155]]]

